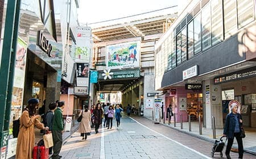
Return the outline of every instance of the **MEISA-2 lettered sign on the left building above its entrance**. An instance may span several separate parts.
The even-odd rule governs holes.
[[[49,40],[43,35],[43,32],[38,31],[36,45],[38,45],[49,57],[52,52],[52,44],[49,43]]]

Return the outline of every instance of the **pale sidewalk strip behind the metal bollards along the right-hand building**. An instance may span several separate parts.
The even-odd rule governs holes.
[[[159,120],[158,120],[159,121]],[[160,124],[163,124],[163,120],[161,120]],[[223,129],[216,129],[216,139],[213,139],[213,129],[211,128],[202,128],[202,135],[200,135],[199,131],[199,122],[191,122],[191,132],[189,132],[189,123],[183,123],[183,129],[181,129],[180,123],[176,123],[176,127],[174,127],[174,122],[171,122],[168,125],[168,121],[166,120],[165,124],[167,127],[171,127],[176,129],[177,131],[187,133],[189,135],[198,137],[199,139],[203,139],[206,141],[210,141],[214,143],[216,139],[220,139],[223,135]],[[243,139],[243,147],[246,152],[256,154],[256,128],[245,128],[246,137]],[[237,148],[237,141],[234,140],[233,144],[234,148]]]

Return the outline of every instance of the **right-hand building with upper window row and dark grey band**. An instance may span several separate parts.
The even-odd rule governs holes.
[[[180,122],[223,128],[232,99],[255,127],[255,1],[191,1],[155,45],[156,90]]]

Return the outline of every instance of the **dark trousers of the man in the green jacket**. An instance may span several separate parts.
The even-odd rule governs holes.
[[[53,130],[52,131],[52,139],[53,139],[53,155],[52,158],[59,158],[59,153],[62,146],[62,132]]]

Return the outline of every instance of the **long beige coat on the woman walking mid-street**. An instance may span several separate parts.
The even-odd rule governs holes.
[[[79,124],[79,130],[78,132],[80,133],[87,133],[87,132],[91,132],[92,130],[90,129],[90,111],[88,110],[87,112],[85,111],[81,111],[79,116],[82,114],[82,120]]]

